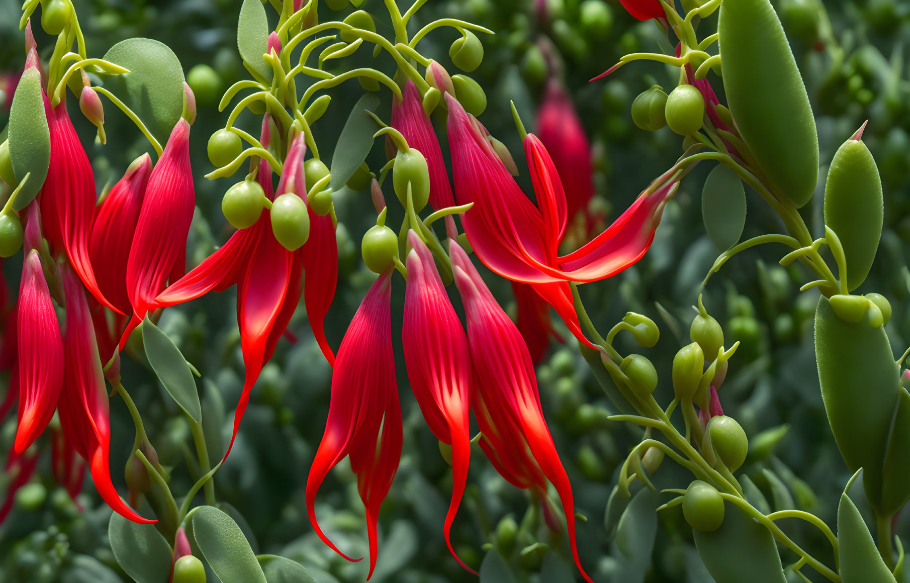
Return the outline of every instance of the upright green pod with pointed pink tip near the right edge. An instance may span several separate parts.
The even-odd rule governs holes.
[[[869,275],[884,220],[878,166],[863,141],[851,137],[834,154],[824,184],[824,224],[834,230],[844,247],[851,291]]]

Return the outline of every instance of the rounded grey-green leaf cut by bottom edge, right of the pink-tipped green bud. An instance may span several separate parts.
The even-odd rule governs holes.
[[[267,583],[253,549],[237,523],[215,507],[193,513],[193,536],[222,583]]]

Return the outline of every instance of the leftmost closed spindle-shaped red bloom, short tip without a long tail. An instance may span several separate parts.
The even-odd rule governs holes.
[[[22,266],[16,315],[19,373],[19,426],[15,452],[21,454],[54,417],[64,377],[64,347],[54,302],[38,252]]]

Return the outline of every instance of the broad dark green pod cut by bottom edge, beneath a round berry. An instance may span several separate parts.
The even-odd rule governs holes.
[[[724,505],[721,528],[692,531],[695,548],[714,581],[784,583],[787,579],[771,531],[735,504]]]

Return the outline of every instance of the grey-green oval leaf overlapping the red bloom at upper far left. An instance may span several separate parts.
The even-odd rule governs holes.
[[[22,210],[45,184],[51,161],[51,135],[47,128],[41,74],[32,67],[22,74],[15,87],[9,111],[9,157],[16,179],[28,173],[28,181],[15,196],[13,209]]]

